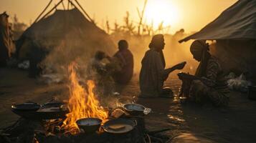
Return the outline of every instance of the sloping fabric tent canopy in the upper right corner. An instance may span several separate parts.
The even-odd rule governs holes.
[[[256,39],[256,1],[237,1],[202,30],[179,42],[189,39]]]

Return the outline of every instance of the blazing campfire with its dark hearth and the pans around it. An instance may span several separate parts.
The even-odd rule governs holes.
[[[87,80],[86,84],[80,84],[76,68],[75,63],[68,67],[67,104],[14,105],[13,112],[22,118],[0,132],[0,142],[165,142],[169,139],[155,135],[169,129],[153,132],[145,129],[145,114],[150,109],[143,105],[131,103],[116,109],[103,108],[95,94],[95,82]],[[90,126],[84,128],[80,121],[90,121],[93,125],[84,124]],[[93,126],[97,129],[91,132]]]

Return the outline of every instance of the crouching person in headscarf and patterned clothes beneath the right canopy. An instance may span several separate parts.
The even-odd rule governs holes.
[[[218,59],[209,53],[209,44],[196,40],[191,44],[190,51],[199,61],[195,76],[202,79],[191,83],[191,98],[200,104],[209,101],[215,106],[227,106],[227,82]]]

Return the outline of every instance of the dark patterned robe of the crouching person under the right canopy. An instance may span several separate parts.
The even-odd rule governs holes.
[[[211,56],[207,62],[204,82],[195,80],[191,84],[191,96],[195,102],[204,103],[207,100],[216,106],[227,106],[227,84],[222,74],[219,61]]]

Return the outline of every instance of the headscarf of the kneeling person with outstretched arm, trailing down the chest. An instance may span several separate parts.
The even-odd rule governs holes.
[[[156,49],[156,51],[158,51],[158,53],[161,56],[161,61],[163,63],[163,68],[165,68],[166,61],[165,61],[164,56],[163,56],[163,51],[162,51],[163,46],[164,46],[163,45],[163,34],[154,35],[151,39],[151,43],[148,45],[149,49]]]

